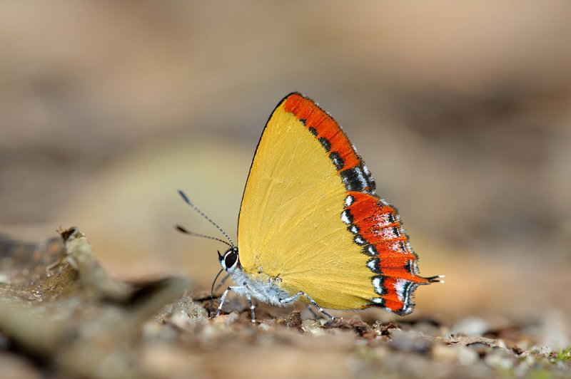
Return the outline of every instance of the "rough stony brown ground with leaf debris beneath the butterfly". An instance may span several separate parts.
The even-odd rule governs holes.
[[[328,321],[308,308],[243,299],[218,305],[180,278],[125,284],[98,264],[79,229],[35,246],[0,244],[4,378],[568,378],[571,349],[552,313],[542,324],[492,328],[481,318]],[[65,242],[64,242],[65,241]],[[189,291],[190,290],[190,291]],[[193,297],[191,297],[193,296]]]

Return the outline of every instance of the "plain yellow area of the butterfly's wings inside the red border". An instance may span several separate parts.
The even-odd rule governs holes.
[[[319,140],[305,118],[286,110],[291,100],[310,101],[293,94],[274,110],[244,190],[238,220],[243,270],[279,278],[290,294],[304,291],[325,308],[363,308],[378,294],[370,256],[342,220],[348,187],[336,167],[354,160],[355,152],[348,147],[350,152],[331,156],[326,144],[335,136]],[[314,104],[306,111],[314,119],[323,113]],[[373,187],[370,177],[363,179]]]

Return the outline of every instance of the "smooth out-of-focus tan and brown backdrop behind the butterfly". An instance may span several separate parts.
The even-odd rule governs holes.
[[[236,236],[256,143],[300,91],[343,125],[423,275],[413,317],[571,311],[566,1],[1,1],[0,232],[83,229],[115,276],[191,276]],[[383,316],[385,317],[385,316]]]

